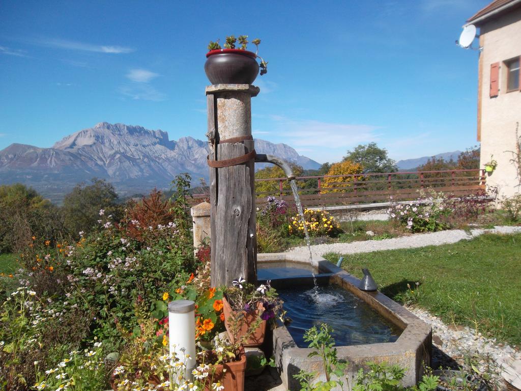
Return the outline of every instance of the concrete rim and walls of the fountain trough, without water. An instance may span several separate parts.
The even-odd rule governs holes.
[[[329,282],[341,286],[369,304],[388,321],[403,330],[393,343],[380,343],[355,346],[338,346],[338,358],[349,362],[346,376],[356,375],[359,368],[366,368],[368,362],[387,362],[406,368],[403,386],[413,386],[424,374],[425,366],[430,365],[432,349],[431,327],[406,310],[400,304],[380,292],[365,292],[358,289],[360,280],[333,265],[324,258],[316,257],[311,262],[305,256],[295,257],[287,253],[258,254],[259,270],[272,267],[302,268],[317,275],[330,274]],[[288,279],[289,282],[289,279]],[[287,389],[300,389],[293,375],[300,370],[316,372],[316,380],[325,380],[322,361],[319,357],[308,358],[312,349],[299,348],[288,329],[279,324],[273,331],[273,353],[280,377]]]

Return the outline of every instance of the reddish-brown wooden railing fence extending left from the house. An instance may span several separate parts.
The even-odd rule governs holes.
[[[338,181],[334,180],[338,178]],[[327,179],[327,180],[325,180]],[[332,206],[386,202],[418,198],[418,190],[432,189],[467,196],[485,190],[483,169],[398,172],[383,174],[354,174],[307,176],[296,178],[302,204],[305,206]],[[286,178],[256,179],[257,206],[267,202],[268,196],[293,201]],[[192,202],[209,199],[207,194],[194,194]]]

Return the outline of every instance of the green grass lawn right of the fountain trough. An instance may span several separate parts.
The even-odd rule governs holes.
[[[359,278],[368,267],[383,294],[402,302],[413,298],[448,324],[521,345],[521,234],[343,256],[342,267]],[[336,263],[338,254],[326,258]]]

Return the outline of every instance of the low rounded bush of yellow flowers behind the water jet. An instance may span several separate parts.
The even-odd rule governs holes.
[[[340,232],[340,226],[329,212],[305,209],[304,218],[309,236],[334,236]],[[304,223],[300,214],[291,218],[288,229],[290,235],[304,237]]]

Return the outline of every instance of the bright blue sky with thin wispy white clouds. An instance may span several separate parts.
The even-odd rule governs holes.
[[[476,145],[488,0],[0,2],[0,149],[101,121],[204,139],[209,40],[261,38],[254,136],[320,163],[375,141],[396,160]]]

